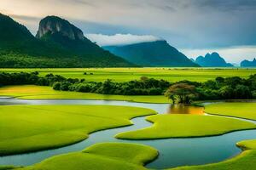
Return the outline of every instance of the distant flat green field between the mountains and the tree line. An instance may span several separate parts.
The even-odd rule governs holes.
[[[126,82],[153,77],[170,82],[189,80],[205,82],[216,77],[248,77],[256,74],[256,69],[216,69],[216,68],[105,68],[105,69],[0,69],[6,72],[38,71],[41,76],[53,73],[68,78],[84,78],[87,81],[102,82],[112,79],[116,82]],[[87,72],[87,75],[84,75]],[[93,75],[90,75],[92,73]]]

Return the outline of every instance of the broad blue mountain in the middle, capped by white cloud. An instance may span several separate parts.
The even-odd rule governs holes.
[[[137,65],[198,66],[165,40],[103,48]]]

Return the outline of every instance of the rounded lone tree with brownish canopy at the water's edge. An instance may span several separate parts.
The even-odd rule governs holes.
[[[165,95],[168,99],[172,99],[173,103],[190,104],[196,96],[195,86],[177,83],[168,88]]]

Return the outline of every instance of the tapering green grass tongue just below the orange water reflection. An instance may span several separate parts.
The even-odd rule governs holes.
[[[231,131],[256,128],[251,122],[232,118],[196,115],[155,115],[148,116],[152,127],[119,133],[119,139],[165,139],[181,137],[211,136]]]

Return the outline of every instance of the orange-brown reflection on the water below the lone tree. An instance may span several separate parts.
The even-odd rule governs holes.
[[[194,105],[171,105],[168,110],[169,114],[195,114],[203,115],[204,108]]]

